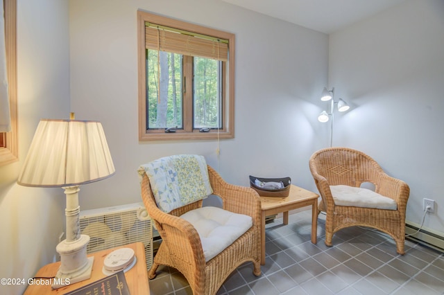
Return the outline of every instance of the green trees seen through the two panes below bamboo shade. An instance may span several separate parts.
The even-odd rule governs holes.
[[[146,49],[146,114],[148,129],[183,128],[183,94],[187,91],[184,56]],[[193,128],[221,127],[221,61],[193,60]]]

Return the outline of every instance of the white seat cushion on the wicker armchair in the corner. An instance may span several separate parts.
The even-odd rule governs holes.
[[[355,206],[364,208],[377,208],[396,210],[398,205],[394,199],[384,197],[367,188],[355,188],[353,186],[330,186],[334,204],[339,206]]]

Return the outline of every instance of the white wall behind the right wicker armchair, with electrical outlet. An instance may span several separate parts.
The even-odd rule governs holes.
[[[444,2],[409,0],[330,35],[329,84],[352,103],[334,145],[362,150],[411,193],[407,220],[444,234]]]

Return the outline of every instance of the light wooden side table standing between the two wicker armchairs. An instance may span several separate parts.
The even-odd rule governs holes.
[[[318,197],[304,188],[290,186],[288,197],[261,197],[262,222],[261,222],[261,264],[265,265],[265,217],[283,212],[283,223],[289,224],[289,211],[311,206],[311,242],[317,242],[318,229]]]

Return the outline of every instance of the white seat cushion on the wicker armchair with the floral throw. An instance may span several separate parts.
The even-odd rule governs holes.
[[[188,211],[180,217],[198,232],[205,261],[221,253],[253,225],[251,216],[211,206]]]

